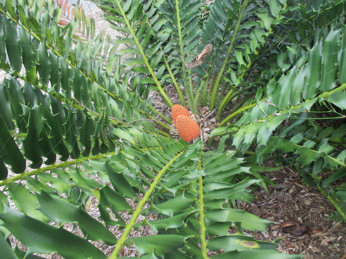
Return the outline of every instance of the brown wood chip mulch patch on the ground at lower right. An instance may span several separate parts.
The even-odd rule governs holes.
[[[270,160],[265,161],[265,165],[275,167]],[[253,204],[242,203],[241,208],[275,224],[268,229],[269,233],[256,232],[256,239],[274,241],[285,236],[277,248],[283,253],[301,254],[313,259],[346,258],[346,223],[329,219],[335,208],[322,193],[304,184],[299,174],[288,166],[261,174],[276,185],[268,185],[269,193],[259,188],[253,193]],[[308,226],[317,233],[302,237],[282,233],[279,224],[287,220]]]

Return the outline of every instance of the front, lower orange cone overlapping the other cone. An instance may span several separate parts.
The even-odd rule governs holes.
[[[184,115],[178,115],[176,117],[175,126],[184,141],[191,141],[201,134],[198,124]]]

